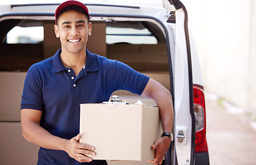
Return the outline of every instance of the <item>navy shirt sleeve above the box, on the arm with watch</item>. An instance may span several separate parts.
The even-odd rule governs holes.
[[[148,76],[119,61],[115,61],[114,78],[116,90],[127,90],[138,95],[142,94],[149,81]]]

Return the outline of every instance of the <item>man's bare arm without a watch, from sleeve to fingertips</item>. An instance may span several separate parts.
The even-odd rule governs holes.
[[[43,148],[63,150],[78,162],[92,162],[87,155],[95,155],[94,147],[79,143],[81,135],[76,135],[71,140],[56,137],[40,126],[41,111],[33,109],[21,110],[21,130],[23,137]]]

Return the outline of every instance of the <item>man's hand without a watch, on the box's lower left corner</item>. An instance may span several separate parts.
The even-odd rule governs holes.
[[[96,155],[95,148],[88,144],[79,143],[81,135],[78,134],[71,140],[68,140],[65,151],[70,157],[76,159],[78,162],[92,162],[92,158],[87,155]]]

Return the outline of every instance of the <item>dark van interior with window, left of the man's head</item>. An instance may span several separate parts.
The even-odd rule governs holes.
[[[0,71],[27,71],[43,60],[43,21],[7,19],[0,30]]]

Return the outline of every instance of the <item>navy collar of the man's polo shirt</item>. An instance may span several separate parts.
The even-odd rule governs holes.
[[[67,69],[64,67],[63,63],[61,63],[61,49],[59,49],[56,54],[53,56],[53,65],[54,72],[61,72],[62,70]],[[86,72],[95,72],[98,70],[98,61],[96,54],[92,54],[88,50],[86,50],[86,62],[83,69]]]

